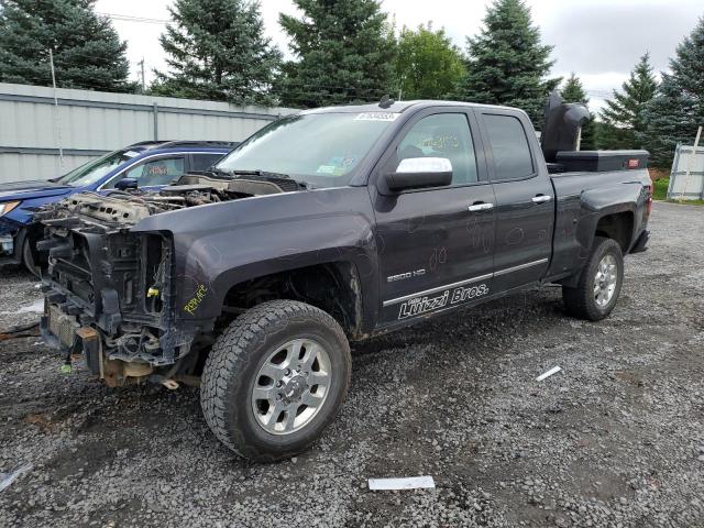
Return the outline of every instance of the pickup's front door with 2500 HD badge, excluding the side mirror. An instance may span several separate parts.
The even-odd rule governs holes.
[[[426,109],[399,131],[370,186],[380,261],[380,322],[392,323],[472,304],[492,292],[494,191],[468,108]],[[392,193],[384,175],[402,160],[442,157],[447,187]]]

